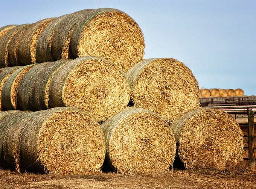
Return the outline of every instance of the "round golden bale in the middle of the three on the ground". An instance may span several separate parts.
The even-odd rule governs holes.
[[[149,110],[126,108],[102,124],[105,163],[118,172],[166,171],[172,166],[176,145],[163,118]]]

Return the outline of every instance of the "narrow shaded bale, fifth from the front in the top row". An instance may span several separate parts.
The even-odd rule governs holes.
[[[17,66],[17,45],[20,41],[22,34],[30,27],[31,24],[26,24],[26,26],[22,27],[18,32],[16,32],[12,39],[9,42],[8,47],[8,67]]]

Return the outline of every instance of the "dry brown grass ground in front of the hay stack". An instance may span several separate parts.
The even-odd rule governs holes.
[[[0,169],[0,188],[41,189],[41,188],[232,188],[255,189],[256,169],[246,166],[235,171],[189,171],[150,172],[146,174],[91,173],[84,175],[48,175],[23,173]]]

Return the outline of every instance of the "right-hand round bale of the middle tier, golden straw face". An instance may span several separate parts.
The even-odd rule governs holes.
[[[166,121],[200,107],[197,80],[178,60],[143,60],[128,70],[126,79],[134,106],[157,112]]]

